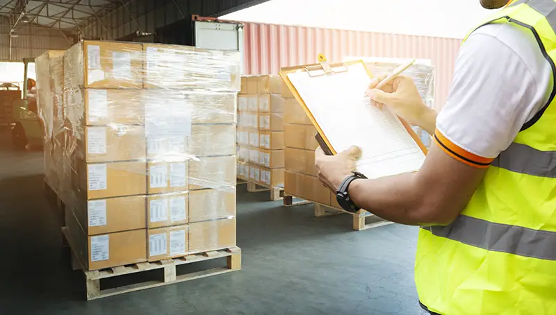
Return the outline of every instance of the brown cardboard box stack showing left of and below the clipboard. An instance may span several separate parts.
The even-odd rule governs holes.
[[[284,149],[286,176],[284,193],[341,209],[332,194],[317,178],[315,168],[316,128],[291,91],[282,87],[284,98]]]

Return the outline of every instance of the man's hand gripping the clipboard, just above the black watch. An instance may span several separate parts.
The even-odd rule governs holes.
[[[315,167],[318,179],[333,192],[336,192],[347,176],[355,171],[355,162],[361,157],[361,148],[352,146],[336,155],[325,155],[320,146],[315,151]]]

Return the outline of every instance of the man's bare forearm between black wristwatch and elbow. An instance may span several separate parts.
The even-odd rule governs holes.
[[[382,219],[406,225],[435,223],[427,212],[425,195],[416,187],[416,173],[375,180],[354,180],[349,194],[354,203]]]

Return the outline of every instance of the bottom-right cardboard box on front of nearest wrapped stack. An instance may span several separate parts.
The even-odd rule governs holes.
[[[189,253],[236,246],[236,219],[191,223],[189,225]]]

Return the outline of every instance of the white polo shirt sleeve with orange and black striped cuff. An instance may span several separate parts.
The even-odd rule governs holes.
[[[436,141],[461,162],[488,166],[546,105],[552,77],[530,30],[482,26],[461,46],[448,100],[436,119]]]

